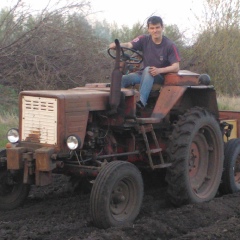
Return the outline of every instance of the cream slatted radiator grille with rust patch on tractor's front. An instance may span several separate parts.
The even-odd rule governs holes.
[[[21,140],[57,144],[57,99],[23,96]]]

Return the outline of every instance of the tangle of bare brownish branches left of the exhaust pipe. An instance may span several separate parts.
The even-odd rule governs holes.
[[[106,39],[96,38],[87,21],[88,2],[45,8],[37,15],[20,2],[0,14],[1,83],[21,91],[106,80],[111,60]]]

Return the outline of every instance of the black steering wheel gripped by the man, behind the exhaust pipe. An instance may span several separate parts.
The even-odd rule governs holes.
[[[115,49],[109,48],[107,52],[110,57],[116,59]],[[132,48],[121,47],[120,60],[127,64],[139,64],[143,61],[143,56]]]

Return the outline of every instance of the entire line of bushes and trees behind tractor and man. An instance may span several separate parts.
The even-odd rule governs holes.
[[[204,0],[204,18],[191,44],[177,25],[165,26],[165,35],[179,47],[181,68],[209,74],[217,91],[228,95],[240,93],[239,1]],[[0,11],[0,84],[16,92],[109,82],[114,64],[109,43],[147,32],[140,22],[131,28],[93,22],[87,1],[46,6],[38,13],[23,2]]]

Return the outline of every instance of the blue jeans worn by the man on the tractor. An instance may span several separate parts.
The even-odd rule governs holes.
[[[163,76],[159,74],[153,77],[149,73],[149,67],[146,67],[142,72],[130,73],[122,77],[122,87],[129,87],[140,83],[140,101],[144,106],[147,104],[153,83],[163,84],[163,82]]]

